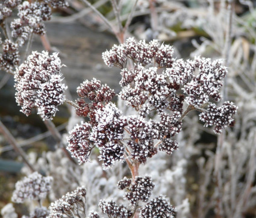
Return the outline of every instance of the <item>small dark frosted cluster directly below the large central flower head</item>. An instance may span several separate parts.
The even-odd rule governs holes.
[[[131,205],[137,202],[147,202],[155,185],[150,176],[136,176],[135,181],[128,187],[129,192],[125,193],[125,198]]]

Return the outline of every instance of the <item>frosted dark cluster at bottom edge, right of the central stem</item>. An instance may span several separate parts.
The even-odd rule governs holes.
[[[175,208],[170,205],[164,196],[159,196],[148,202],[140,210],[142,218],[174,217]]]

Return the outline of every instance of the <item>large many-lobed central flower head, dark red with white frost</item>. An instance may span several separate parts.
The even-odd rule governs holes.
[[[211,111],[213,107],[205,109],[202,104],[220,100],[219,90],[226,67],[220,60],[212,62],[210,58],[196,57],[184,61],[175,60],[172,55],[172,46],[160,45],[157,40],[136,42],[133,38],[102,54],[107,66],[122,69],[119,96],[128,107],[137,111],[137,115],[123,116],[122,111],[110,102],[114,91],[102,86],[100,81],[84,81],[77,89],[80,99],[76,101],[76,114],[90,120],[86,129],[82,123],[70,131],[67,148],[73,157],[83,163],[96,146],[104,169],[113,166],[117,160],[124,160],[125,156],[146,163],[158,150],[170,155],[178,149],[178,142],[173,137],[182,129],[182,119],[187,113],[183,111],[184,104],[192,110],[205,111],[205,114],[208,110],[214,113]],[[133,61],[134,67],[126,68],[128,60]],[[92,102],[87,103],[86,98]],[[216,125],[215,131],[220,133],[232,124],[237,108],[233,109],[225,110],[225,113],[215,111],[220,116],[214,116],[215,123],[207,122],[210,118],[204,114],[201,114],[201,120],[208,125],[212,122]],[[154,114],[160,119],[149,119]]]

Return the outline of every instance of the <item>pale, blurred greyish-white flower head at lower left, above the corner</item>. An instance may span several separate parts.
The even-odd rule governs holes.
[[[44,199],[51,189],[51,184],[51,176],[42,176],[38,172],[34,172],[23,178],[22,181],[16,182],[11,201],[23,203],[27,199]]]

